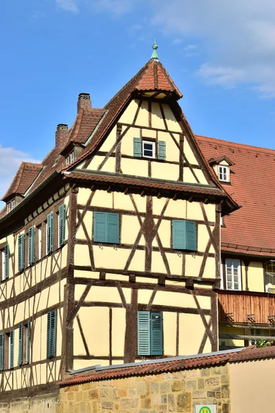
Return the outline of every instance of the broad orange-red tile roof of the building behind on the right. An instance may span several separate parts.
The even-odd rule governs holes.
[[[231,185],[223,187],[241,205],[225,217],[222,250],[250,255],[275,255],[275,151],[206,136],[197,141],[207,160],[226,156]]]

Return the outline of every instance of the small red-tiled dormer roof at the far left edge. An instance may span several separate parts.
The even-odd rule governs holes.
[[[43,165],[41,164],[22,162],[2,201],[8,200],[12,195],[23,195],[32,182],[34,182],[42,168]]]

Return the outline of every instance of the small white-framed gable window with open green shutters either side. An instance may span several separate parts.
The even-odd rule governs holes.
[[[166,159],[166,142],[159,140],[157,142],[157,156],[156,156],[156,142],[146,140],[146,138],[133,138],[133,156],[135,158],[152,158],[165,160]]]

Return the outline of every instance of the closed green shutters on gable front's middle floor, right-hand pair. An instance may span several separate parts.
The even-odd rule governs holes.
[[[192,221],[172,221],[173,249],[197,251],[196,223]]]

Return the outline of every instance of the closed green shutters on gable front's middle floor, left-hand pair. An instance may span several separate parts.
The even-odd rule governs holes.
[[[94,242],[120,243],[120,215],[94,212]]]

